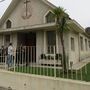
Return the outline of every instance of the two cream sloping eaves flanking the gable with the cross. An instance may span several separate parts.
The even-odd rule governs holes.
[[[0,19],[0,26],[5,22],[5,20],[8,18],[8,16],[11,14],[11,12],[13,11],[13,9],[17,6],[17,4],[19,4],[21,0],[12,0],[9,7],[6,9],[5,13],[3,14],[3,16]],[[42,2],[44,2],[46,5],[50,6],[52,9],[56,8],[55,5],[53,5],[52,3],[50,3],[47,0],[41,0]]]

